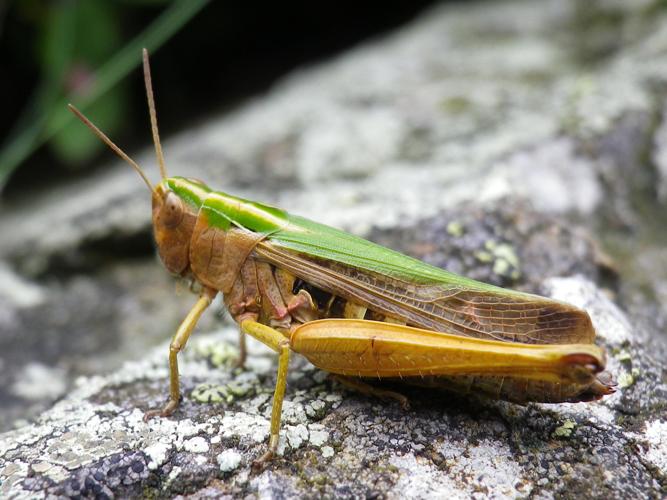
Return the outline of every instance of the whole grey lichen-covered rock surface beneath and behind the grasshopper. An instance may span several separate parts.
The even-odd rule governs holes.
[[[280,457],[253,473],[275,359],[253,343],[233,369],[214,314],[180,409],[142,421],[194,298],[114,164],[0,214],[0,496],[666,496],[666,50],[657,2],[444,6],[165,141],[172,174],[586,308],[616,394],[404,389],[406,412],[295,356]]]

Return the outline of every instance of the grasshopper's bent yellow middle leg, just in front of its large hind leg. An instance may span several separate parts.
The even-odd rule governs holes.
[[[257,323],[256,321],[246,320],[241,322],[241,330],[278,353],[278,377],[276,380],[276,390],[273,393],[269,449],[259,459],[255,460],[253,464],[254,466],[261,466],[264,462],[271,460],[278,450],[278,442],[280,440],[280,417],[283,409],[285,387],[287,386],[287,368],[289,366],[290,352],[289,340],[287,340],[278,330],[274,330],[273,328]]]

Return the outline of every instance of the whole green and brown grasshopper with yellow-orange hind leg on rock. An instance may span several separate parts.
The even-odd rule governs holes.
[[[279,443],[290,352],[348,385],[406,403],[368,383],[401,380],[515,403],[592,401],[614,392],[588,314],[572,305],[474,281],[279,208],[169,177],[157,129],[148,54],[144,79],[161,180],[74,106],[70,109],[141,176],[151,193],[160,258],[201,285],[169,347],[169,400],[180,400],[178,353],[218,293],[245,335],[278,354],[268,451]]]

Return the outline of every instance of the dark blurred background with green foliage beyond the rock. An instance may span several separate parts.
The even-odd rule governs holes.
[[[0,2],[0,189],[20,196],[99,164],[75,103],[123,148],[149,141],[140,49],[152,55],[163,135],[224,110],[304,63],[414,17],[404,2]],[[105,153],[106,154],[106,153]]]

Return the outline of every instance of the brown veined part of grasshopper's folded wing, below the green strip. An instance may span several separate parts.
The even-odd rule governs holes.
[[[255,252],[318,288],[429,330],[530,344],[592,343],[595,337],[585,311],[537,295],[491,286],[415,284],[271,241],[261,242]]]

